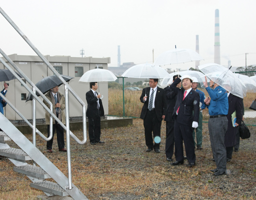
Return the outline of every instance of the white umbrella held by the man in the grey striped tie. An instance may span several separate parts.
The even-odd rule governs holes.
[[[131,78],[165,78],[169,77],[169,73],[160,66],[144,63],[128,68],[121,76]]]

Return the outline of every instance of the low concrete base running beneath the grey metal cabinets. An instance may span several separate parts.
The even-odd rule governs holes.
[[[32,133],[32,128],[30,128],[26,124],[15,124],[16,128],[22,133]],[[105,119],[100,120],[100,127],[101,128],[112,128],[112,127],[121,127],[132,125],[132,118],[125,118],[125,117],[117,117],[117,116],[107,116]],[[69,123],[70,130],[82,130],[82,121],[70,121]],[[88,121],[86,121],[86,127],[88,129]],[[42,132],[47,132],[47,125],[44,124],[36,124],[36,128]]]

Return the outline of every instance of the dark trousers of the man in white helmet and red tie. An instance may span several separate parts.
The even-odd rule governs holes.
[[[195,162],[193,128],[190,125],[184,125],[177,120],[174,123],[174,141],[176,161],[184,159],[183,141],[185,146],[186,158],[188,162]]]

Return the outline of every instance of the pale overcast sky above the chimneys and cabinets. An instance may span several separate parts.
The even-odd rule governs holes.
[[[44,55],[110,57],[121,63],[152,63],[163,51],[195,50],[200,64],[214,62],[214,14],[219,9],[220,64],[256,64],[255,0],[0,0],[0,7]],[[0,48],[35,55],[0,14]],[[194,62],[178,64],[194,67]],[[164,66],[172,69],[174,66]]]

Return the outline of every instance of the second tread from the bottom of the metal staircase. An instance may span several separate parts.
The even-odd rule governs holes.
[[[34,166],[31,164],[14,166],[13,170],[31,177],[42,178],[42,179],[50,178],[50,175],[48,175],[41,167]]]

